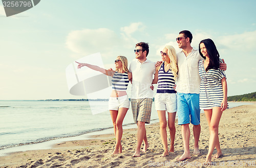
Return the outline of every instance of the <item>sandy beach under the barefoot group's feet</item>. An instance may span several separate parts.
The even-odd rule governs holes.
[[[215,167],[256,167],[256,104],[227,109],[223,112],[219,138],[223,156],[212,159]],[[168,129],[167,129],[168,130]],[[160,157],[163,153],[159,123],[146,125],[148,150],[132,157],[137,144],[137,129],[123,131],[123,152],[112,155],[115,147],[114,133],[95,135],[91,140],[75,140],[56,144],[49,150],[12,153],[0,157],[1,167],[211,167],[204,165],[208,152],[209,130],[205,115],[201,114],[201,154],[193,154],[194,138],[190,125],[191,158],[177,161],[183,154],[181,127],[176,121],[175,153]],[[169,144],[169,134],[168,134]],[[142,144],[143,147],[143,144]],[[214,151],[214,154],[216,150]]]

